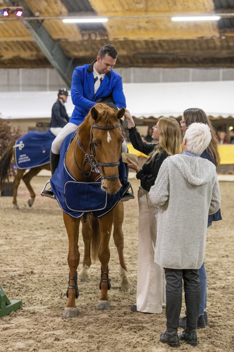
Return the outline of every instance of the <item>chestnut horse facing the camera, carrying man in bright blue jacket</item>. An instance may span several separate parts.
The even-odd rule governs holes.
[[[101,189],[108,194],[116,194],[122,187],[118,179],[118,164],[121,156],[121,145],[123,135],[121,132],[120,119],[125,113],[125,109],[115,111],[105,104],[97,104],[93,107],[85,120],[79,125],[75,137],[73,138],[65,157],[66,167],[75,179],[78,181],[93,181],[98,174],[95,172],[97,167],[101,176]],[[93,157],[88,154],[92,150]],[[88,157],[87,157],[88,156]],[[89,160],[90,162],[87,162]],[[92,219],[94,226],[92,226]],[[78,275],[77,268],[79,264],[78,236],[80,218],[72,217],[63,212],[63,220],[67,230],[69,250],[69,286],[67,289],[68,301],[63,311],[64,318],[77,316],[75,299],[78,298]],[[91,214],[87,217],[87,222],[83,223],[82,235],[85,243],[85,257],[83,262],[83,272],[86,275],[86,269],[90,266],[90,242],[91,237],[94,242],[94,254],[98,254],[101,263],[101,280],[100,280],[100,298],[97,309],[110,309],[108,299],[108,289],[110,288],[108,263],[110,260],[109,241],[113,221],[115,221],[116,231],[114,229],[114,240],[119,253],[120,275],[125,274],[127,269],[123,259],[123,235],[119,231],[123,220],[123,204],[119,202],[117,206],[107,214],[99,218],[94,218]],[[119,221],[119,225],[117,222]],[[97,226],[99,225],[99,226]],[[92,227],[92,231],[91,231]],[[99,227],[99,228],[98,228]],[[96,234],[93,231],[96,230]],[[99,231],[99,240],[97,233]],[[129,287],[128,287],[129,288]],[[127,289],[128,290],[128,289]]]

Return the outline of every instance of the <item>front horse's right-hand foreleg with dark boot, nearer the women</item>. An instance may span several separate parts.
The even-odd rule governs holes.
[[[108,289],[111,288],[109,279],[108,264],[110,261],[109,242],[111,236],[111,229],[114,220],[114,211],[112,210],[107,215],[98,218],[100,224],[100,247],[98,251],[98,258],[101,263],[101,280],[100,286],[101,295],[98,301],[97,309],[110,309],[110,302],[108,298]]]

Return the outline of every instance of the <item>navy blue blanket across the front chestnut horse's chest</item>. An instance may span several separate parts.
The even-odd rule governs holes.
[[[50,184],[61,209],[65,213],[74,218],[79,218],[84,213],[91,213],[99,218],[112,210],[128,190],[130,183],[127,181],[126,168],[121,159],[119,179],[122,187],[115,195],[109,195],[101,190],[100,177],[91,182],[76,180],[70,175],[65,163],[66,153],[74,136],[75,132],[72,132],[62,142],[59,166],[51,177]]]

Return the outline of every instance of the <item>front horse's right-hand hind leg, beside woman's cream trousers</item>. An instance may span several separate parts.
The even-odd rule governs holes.
[[[121,290],[126,292],[131,292],[133,290],[133,286],[131,285],[128,279],[128,270],[125,265],[124,256],[123,256],[123,231],[122,231],[122,223],[124,216],[124,207],[123,202],[119,202],[117,206],[114,208],[114,242],[117,247],[118,257],[119,257],[119,275],[121,277]]]

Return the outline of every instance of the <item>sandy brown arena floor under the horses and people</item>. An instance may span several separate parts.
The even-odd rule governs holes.
[[[92,264],[90,281],[79,283],[78,317],[63,319],[68,284],[68,241],[62,212],[55,200],[40,197],[46,181],[32,181],[37,198],[28,208],[28,192],[20,184],[18,203],[0,197],[0,284],[8,298],[21,299],[22,308],[0,318],[0,352],[163,352],[175,351],[159,342],[165,330],[161,314],[133,313],[137,284],[137,198],[125,202],[123,231],[125,260],[132,293],[119,290],[117,250],[110,241],[112,288],[110,311],[97,311],[100,264]],[[135,194],[139,183],[132,180]],[[209,326],[198,330],[199,344],[181,343],[176,351],[234,351],[234,182],[220,182],[223,220],[208,229],[206,269]],[[79,239],[81,262],[83,243]],[[182,308],[184,310],[184,306]],[[182,330],[181,330],[182,331]]]

